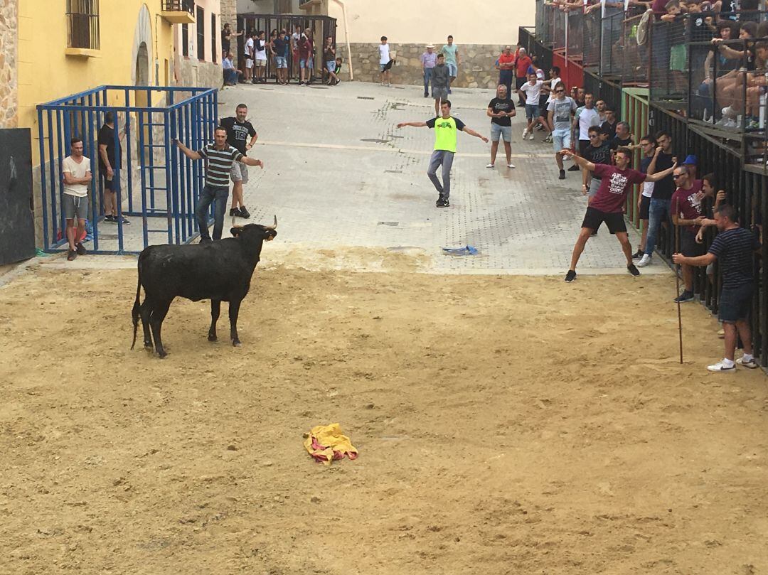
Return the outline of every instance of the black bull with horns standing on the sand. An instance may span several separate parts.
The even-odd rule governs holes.
[[[198,243],[184,246],[149,246],[139,255],[138,285],[134,302],[134,342],[139,317],[144,328],[144,347],[154,349],[161,358],[167,353],[163,348],[160,331],[170,302],[175,297],[184,297],[197,302],[210,299],[210,329],[208,341],[215,342],[216,322],[219,319],[221,302],[230,302],[230,338],[232,345],[240,345],[237,337],[237,313],[240,302],[250,288],[253,269],[259,263],[264,240],[276,235],[277,218],[274,226],[233,227],[234,237],[217,242]],[[141,287],[144,286],[144,302],[139,303]],[[151,330],[151,333],[150,333]]]

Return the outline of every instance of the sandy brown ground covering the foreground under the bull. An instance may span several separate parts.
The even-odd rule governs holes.
[[[670,277],[395,267],[257,270],[240,349],[174,302],[164,360],[131,270],[0,289],[0,573],[768,573],[766,377],[694,304],[677,363]]]

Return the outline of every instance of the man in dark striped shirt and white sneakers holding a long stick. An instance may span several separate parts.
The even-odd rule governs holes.
[[[723,290],[718,300],[718,312],[725,330],[725,357],[720,362],[707,365],[707,369],[710,372],[728,373],[736,371],[736,364],[756,368],[747,318],[755,290],[753,253],[760,249],[760,242],[750,230],[739,227],[736,208],[729,204],[717,207],[715,225],[720,233],[705,255],[686,257],[682,253],[675,253],[672,261],[687,266],[708,266],[717,260],[723,271]],[[738,338],[743,344],[744,355],[733,362]]]

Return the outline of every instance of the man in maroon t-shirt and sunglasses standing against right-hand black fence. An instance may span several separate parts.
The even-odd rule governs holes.
[[[672,223],[680,226],[680,253],[686,257],[698,257],[707,253],[703,243],[697,243],[696,234],[699,233],[701,222],[706,215],[702,200],[703,182],[690,177],[688,168],[680,166],[674,170],[674,183],[677,190],[672,194]],[[683,227],[684,226],[684,227]],[[678,251],[675,249],[675,251]],[[685,290],[677,296],[675,302],[690,302],[694,299],[694,268],[687,263],[683,266],[683,283]]]

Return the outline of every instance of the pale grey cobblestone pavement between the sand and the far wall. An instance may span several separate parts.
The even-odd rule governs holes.
[[[457,89],[453,114],[488,135],[485,111],[493,95]],[[568,172],[567,180],[558,180],[551,144],[541,142],[541,133],[536,141],[521,141],[525,114],[519,109],[512,130],[516,169],[505,167],[503,147],[497,167],[486,168],[490,144],[459,134],[451,207],[438,209],[426,176],[432,131],[396,127],[432,117],[432,100],[419,87],[248,85],[227,88],[219,102],[220,117],[233,115],[240,102],[249,107],[259,133],[250,155],[266,168],[250,168],[245,200],[251,221],[278,216],[276,244],[410,248],[429,256],[430,271],[442,273],[568,269],[586,207],[581,177]],[[637,240],[631,231],[633,246]],[[442,254],[442,247],[465,245],[478,248],[478,255]],[[626,273],[620,246],[606,229],[589,241],[578,271]],[[654,264],[644,273],[661,271],[668,269]]]

